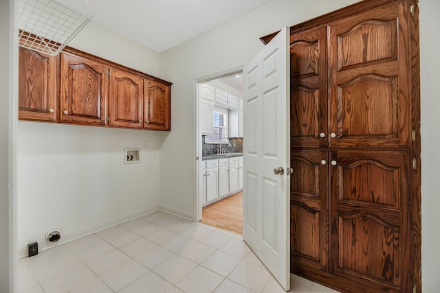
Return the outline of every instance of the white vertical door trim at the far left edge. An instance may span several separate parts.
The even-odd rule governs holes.
[[[17,292],[18,40],[16,1],[0,2],[0,292]]]

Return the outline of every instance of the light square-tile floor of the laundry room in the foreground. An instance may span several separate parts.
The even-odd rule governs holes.
[[[284,292],[243,237],[161,212],[18,261],[21,292]],[[293,276],[289,292],[335,290]]]

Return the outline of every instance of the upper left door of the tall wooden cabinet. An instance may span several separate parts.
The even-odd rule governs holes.
[[[327,137],[327,31],[293,34],[290,38],[291,145],[325,146]]]

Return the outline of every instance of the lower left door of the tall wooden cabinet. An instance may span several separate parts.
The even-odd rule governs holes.
[[[291,152],[290,225],[292,271],[301,264],[328,270],[327,152]]]

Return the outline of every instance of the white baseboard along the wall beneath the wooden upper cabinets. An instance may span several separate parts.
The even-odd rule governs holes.
[[[93,233],[96,233],[98,231],[102,231],[104,229],[110,228],[112,226],[116,226],[118,224],[122,224],[124,222],[127,222],[129,220],[133,220],[135,218],[139,218],[143,215],[148,215],[148,213],[154,213],[155,211],[159,211],[161,209],[159,209],[159,207],[152,207],[150,209],[145,209],[143,211],[138,211],[137,213],[133,213],[131,215],[125,215],[122,216],[120,218],[115,218],[113,220],[110,220],[108,222],[103,222],[101,224],[97,224],[95,226],[91,226],[89,228],[85,228],[82,230],[78,230],[78,231],[74,231],[71,233],[61,233],[61,239],[58,240],[58,242],[48,242],[48,241],[43,241],[43,242],[39,242],[39,252],[50,249],[50,248],[54,248],[55,246],[61,245],[61,244],[65,244],[67,242],[71,242],[72,240],[78,239],[80,237],[84,237],[87,235],[91,235]],[[166,211],[166,213],[169,213],[168,211]],[[179,215],[178,215],[179,216]],[[17,256],[19,259],[23,258],[23,257],[27,257],[28,256],[28,247],[24,247],[24,248],[19,248],[19,250],[17,251]]]

